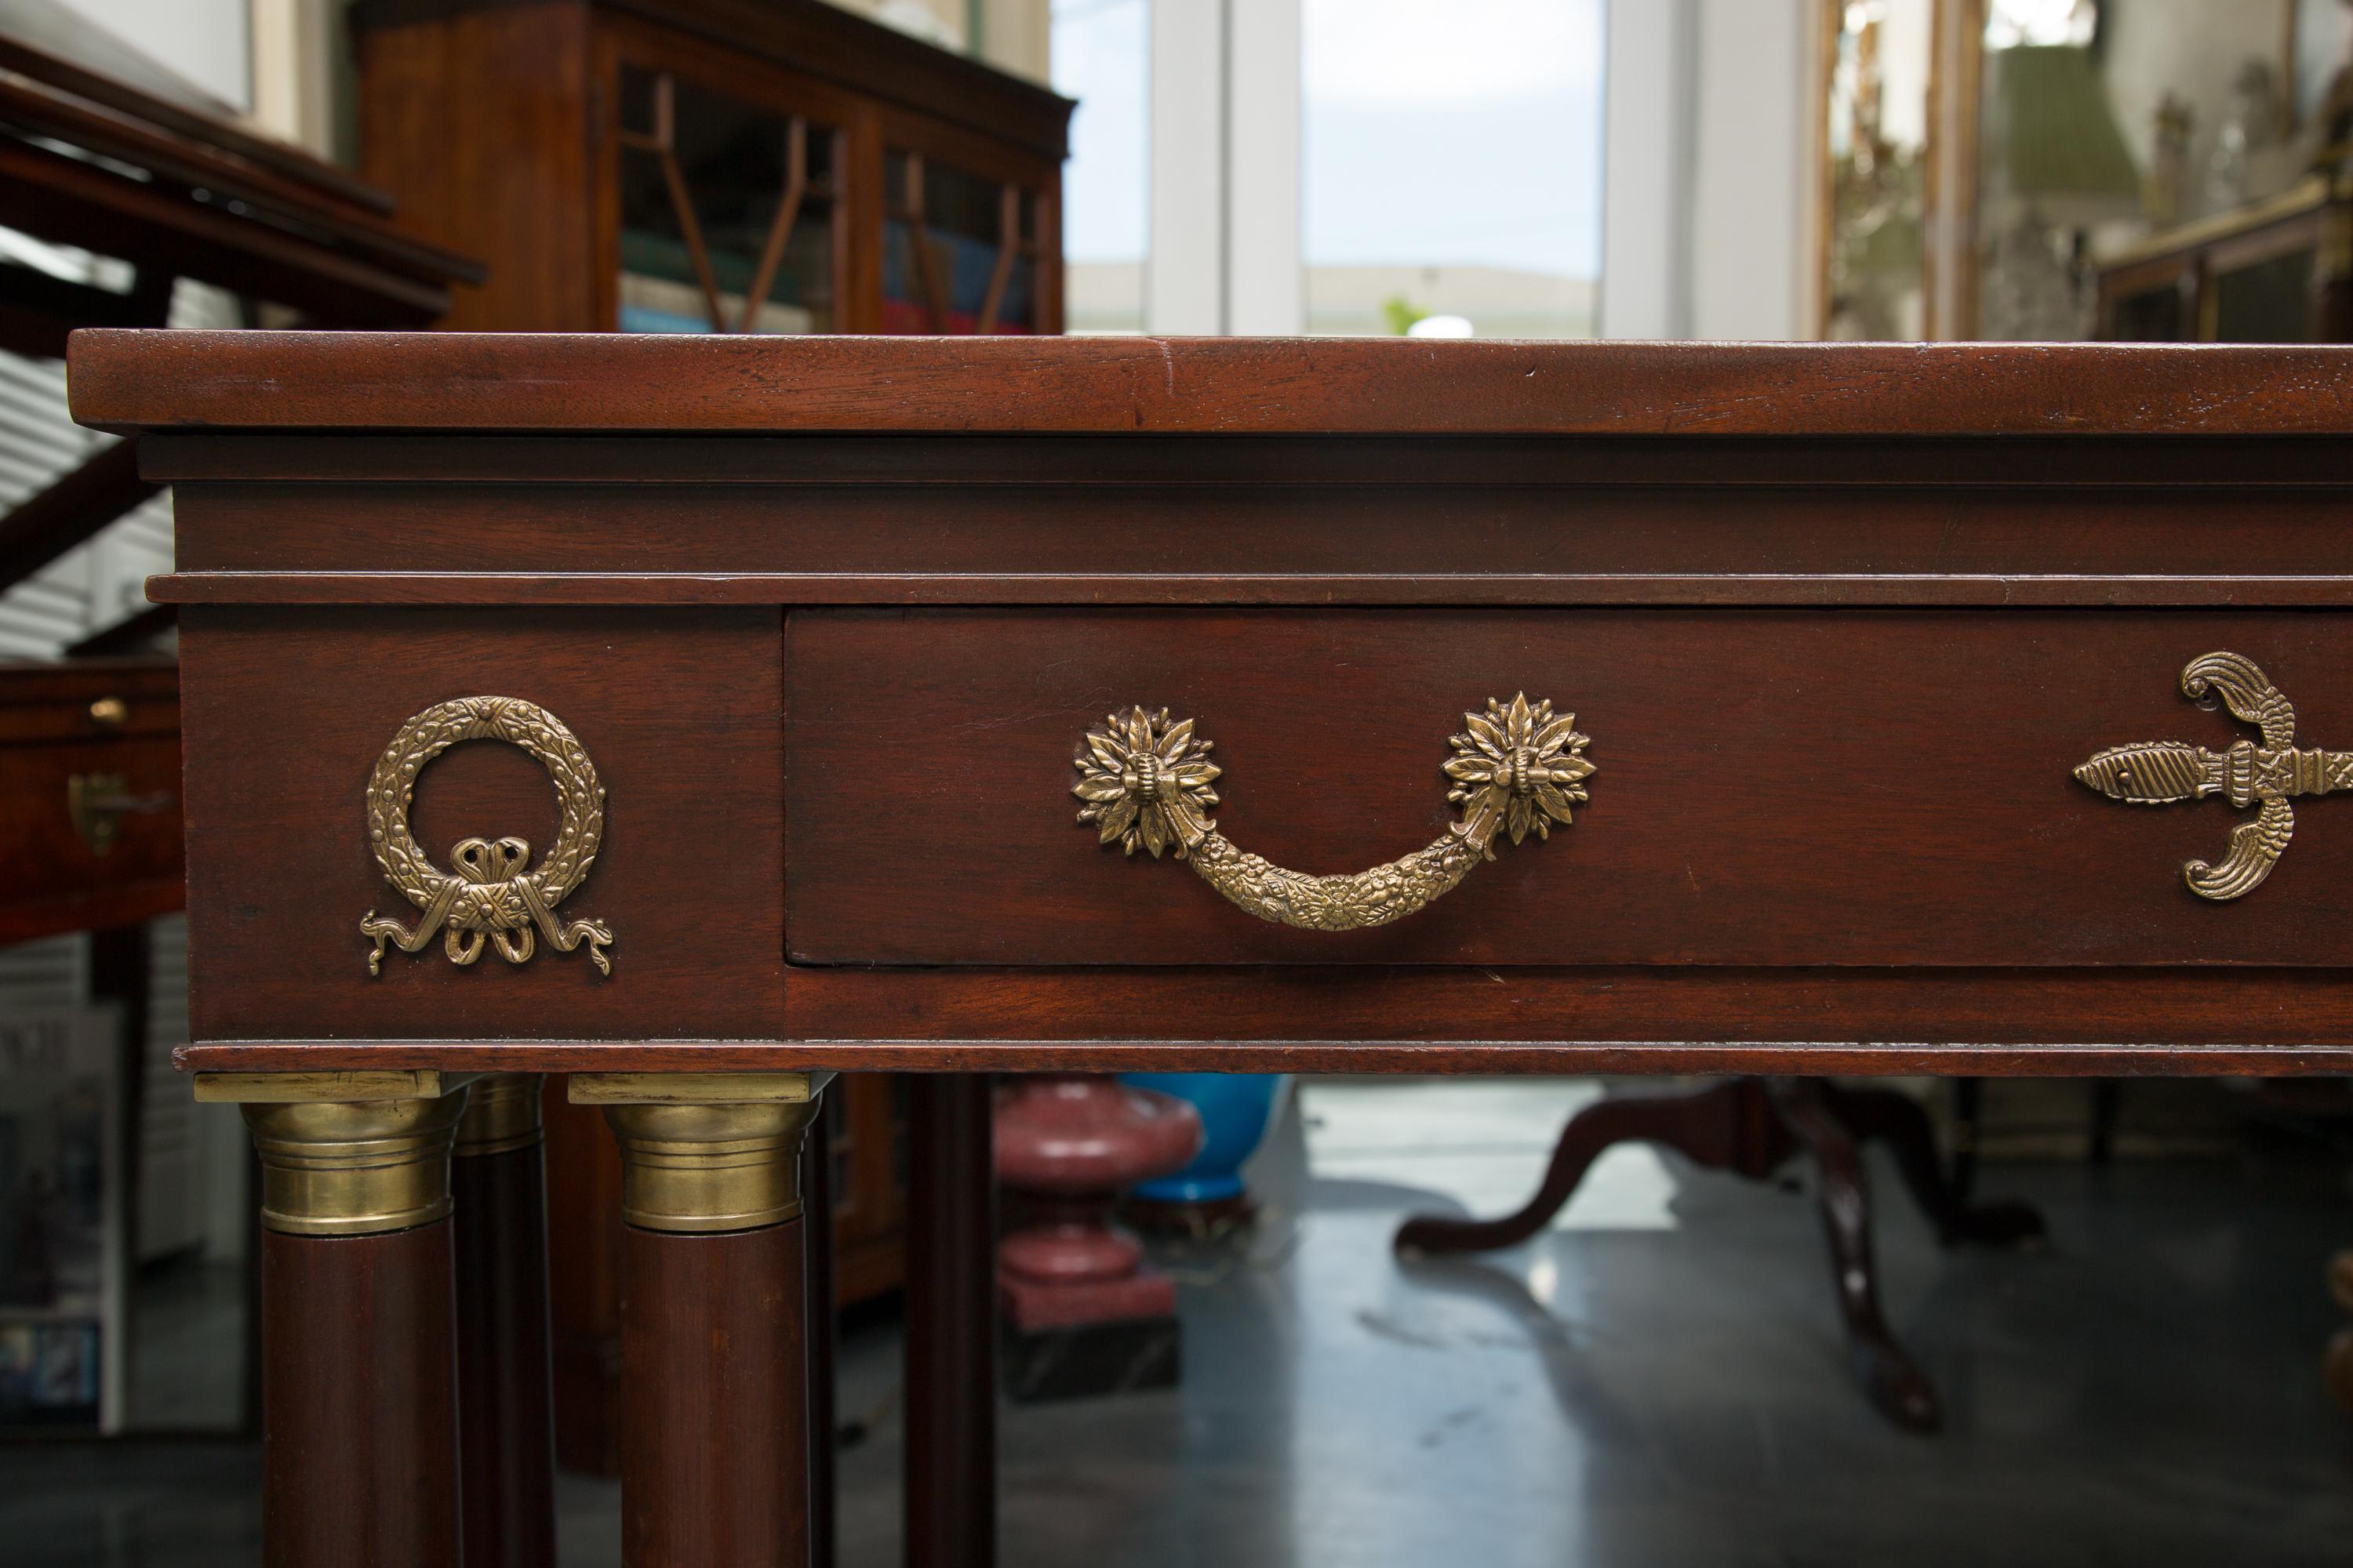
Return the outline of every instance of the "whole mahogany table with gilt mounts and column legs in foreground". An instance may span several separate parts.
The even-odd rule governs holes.
[[[179,496],[280,1563],[546,1507],[508,1074],[628,1166],[652,1566],[805,1552],[826,1070],[2353,1063],[2344,350],[106,331],[73,400]],[[908,1542],[976,1563],[929,1081]]]

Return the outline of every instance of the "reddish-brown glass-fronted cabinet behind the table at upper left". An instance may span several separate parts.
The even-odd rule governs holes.
[[[452,327],[1061,331],[1073,103],[824,0],[360,0],[360,155]]]

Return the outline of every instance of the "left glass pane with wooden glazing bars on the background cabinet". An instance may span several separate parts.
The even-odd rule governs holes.
[[[831,331],[831,127],[621,68],[621,331]]]

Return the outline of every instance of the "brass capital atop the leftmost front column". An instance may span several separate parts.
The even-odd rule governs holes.
[[[247,1103],[261,1154],[261,1225],[374,1237],[449,1213],[449,1145],[466,1093],[438,1100]]]

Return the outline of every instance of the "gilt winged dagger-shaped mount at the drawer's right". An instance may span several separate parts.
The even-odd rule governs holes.
[[[2209,752],[2188,741],[2134,741],[2099,752],[2075,769],[2075,778],[2108,799],[2137,806],[2169,806],[2207,795],[2224,795],[2240,809],[2254,806],[2257,813],[2231,830],[2231,853],[2221,865],[2191,860],[2181,867],[2181,879],[2200,898],[2242,898],[2261,886],[2287,851],[2287,837],[2297,830],[2289,799],[2353,790],[2353,752],[2299,748],[2297,708],[2240,654],[2193,658],[2181,670],[2181,693],[2191,701],[2219,696],[2233,717],[2264,733],[2264,743],[2240,741],[2226,752]]]

